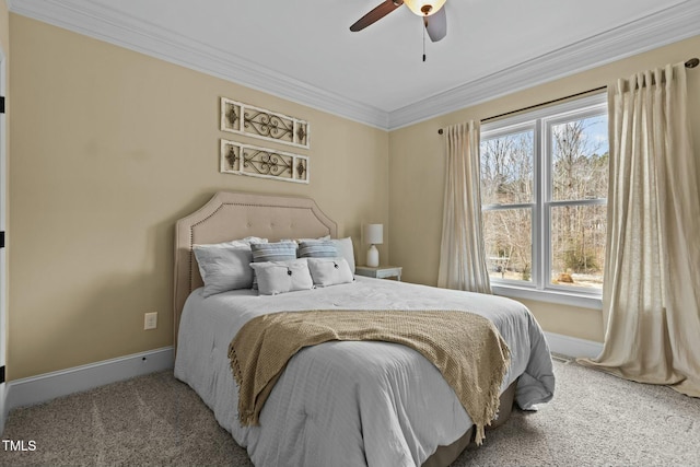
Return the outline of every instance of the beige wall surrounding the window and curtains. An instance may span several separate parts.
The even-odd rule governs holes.
[[[444,180],[444,140],[438,129],[488,118],[553,98],[606,85],[612,80],[685,61],[700,52],[700,36],[560,79],[485,104],[392,131],[389,135],[389,243],[392,261],[407,281],[435,284],[440,258]],[[700,149],[700,68],[688,72],[689,112],[695,148]],[[603,340],[602,313],[525,301],[546,330]]]

